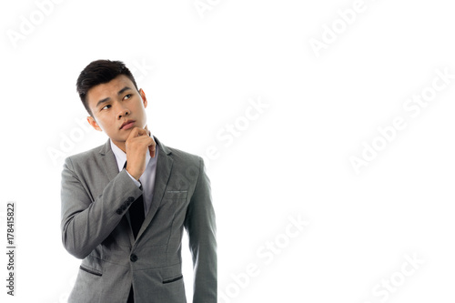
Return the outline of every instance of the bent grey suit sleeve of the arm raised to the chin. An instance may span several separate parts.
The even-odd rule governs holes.
[[[126,210],[142,195],[125,169],[90,197],[82,173],[77,174],[71,158],[62,172],[62,241],[76,258],[86,258],[118,225]],[[94,200],[93,200],[94,199]]]

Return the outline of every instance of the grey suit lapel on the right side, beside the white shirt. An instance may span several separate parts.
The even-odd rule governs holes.
[[[142,233],[150,224],[153,217],[155,217],[158,207],[161,205],[161,201],[163,200],[166,191],[167,181],[169,180],[171,174],[172,164],[174,162],[172,157],[169,157],[171,153],[170,150],[168,150],[166,146],[159,142],[157,137],[154,136],[154,140],[157,142],[157,146],[159,148],[157,157],[157,172],[155,176],[155,187],[153,190],[154,194],[152,198],[152,205],[150,206],[147,216],[144,219],[144,223],[142,224],[142,227],[137,234],[137,239],[141,237]]]

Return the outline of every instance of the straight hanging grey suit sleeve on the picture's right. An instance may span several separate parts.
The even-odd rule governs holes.
[[[199,176],[185,219],[193,258],[193,303],[217,303],[217,226],[210,181],[199,158]]]

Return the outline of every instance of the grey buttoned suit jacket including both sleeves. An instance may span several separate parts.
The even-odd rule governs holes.
[[[109,140],[67,157],[62,172],[62,241],[81,258],[68,302],[187,302],[181,271],[184,227],[194,265],[193,303],[217,302],[217,241],[210,182],[201,157],[157,140],[152,205],[136,240],[130,205],[142,195],[118,171]]]

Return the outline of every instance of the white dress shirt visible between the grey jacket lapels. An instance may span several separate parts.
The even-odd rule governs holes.
[[[151,135],[150,135],[151,136]],[[153,138],[153,136],[151,136]],[[118,171],[121,171],[125,166],[126,162],[126,153],[121,150],[118,146],[112,143],[110,140],[112,151],[114,156],[116,156],[116,164],[118,166]],[[148,209],[152,205],[153,198],[153,189],[155,188],[155,177],[157,174],[157,157],[158,157],[158,146],[155,146],[155,157],[150,157],[150,153],[146,155],[146,171],[139,177],[140,183],[131,175],[128,171],[126,173],[133,179],[137,187],[140,187],[142,184],[143,194],[142,198],[144,201],[144,214],[147,216]]]

